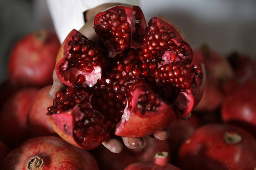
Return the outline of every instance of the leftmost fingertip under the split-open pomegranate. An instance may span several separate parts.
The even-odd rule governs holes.
[[[123,150],[123,144],[118,138],[110,138],[102,142],[102,144],[111,152],[120,153]]]

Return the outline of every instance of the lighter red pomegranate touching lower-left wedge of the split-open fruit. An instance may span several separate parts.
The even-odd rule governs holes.
[[[28,110],[28,131],[32,137],[57,135],[46,118],[47,108],[52,105],[52,99],[49,96],[51,87],[52,85],[47,85],[40,89]]]

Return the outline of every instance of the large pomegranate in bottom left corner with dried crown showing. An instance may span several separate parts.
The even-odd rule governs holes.
[[[98,164],[90,152],[72,146],[62,138],[40,136],[14,148],[3,160],[0,169],[98,170]]]

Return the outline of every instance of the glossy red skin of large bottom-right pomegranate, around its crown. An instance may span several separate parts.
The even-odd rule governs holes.
[[[224,140],[225,132],[242,137],[235,144]],[[198,128],[181,146],[178,166],[182,170],[249,170],[256,167],[256,139],[230,124],[208,124]]]

